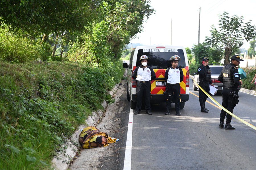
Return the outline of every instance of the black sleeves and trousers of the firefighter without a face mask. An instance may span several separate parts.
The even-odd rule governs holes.
[[[183,81],[183,71],[181,68],[177,67],[179,69],[179,82]],[[166,81],[166,91],[168,93],[168,99],[166,101],[166,111],[167,112],[170,112],[170,109],[171,109],[171,104],[172,102],[175,102],[175,111],[176,111],[176,114],[179,113],[179,102],[180,102],[180,85],[179,83],[175,83],[175,84],[171,84],[171,83],[168,83],[167,80],[168,80],[168,74],[169,74],[169,70],[170,69],[174,69],[171,67],[167,68],[166,71],[165,71],[165,81]]]

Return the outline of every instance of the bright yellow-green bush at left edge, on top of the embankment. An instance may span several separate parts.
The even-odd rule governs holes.
[[[39,58],[37,47],[33,42],[10,32],[5,26],[0,26],[0,60],[9,62],[27,62]]]

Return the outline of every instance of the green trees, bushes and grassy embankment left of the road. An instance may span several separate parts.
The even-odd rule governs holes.
[[[149,2],[0,0],[0,169],[50,169],[64,138],[112,102]]]

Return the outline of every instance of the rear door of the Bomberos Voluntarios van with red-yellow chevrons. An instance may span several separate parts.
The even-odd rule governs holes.
[[[171,66],[168,60],[172,56],[178,55],[181,58],[178,67],[182,69],[184,76],[183,81],[180,83],[180,92],[181,94],[186,94],[186,74],[188,72],[188,66],[186,66],[183,49],[139,49],[136,66],[140,65],[139,59],[142,55],[148,56],[148,66],[152,67],[156,73],[156,79],[151,81],[152,95],[163,95],[166,87],[164,80],[165,70]]]

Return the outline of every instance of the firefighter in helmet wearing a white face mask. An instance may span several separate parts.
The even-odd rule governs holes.
[[[151,80],[156,78],[154,70],[149,67],[148,56],[142,55],[140,57],[140,66],[136,67],[133,71],[132,77],[136,79],[136,111],[133,114],[139,114],[141,112],[142,100],[144,97],[145,109],[148,115],[152,115],[150,108],[151,98]]]

